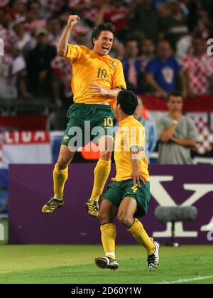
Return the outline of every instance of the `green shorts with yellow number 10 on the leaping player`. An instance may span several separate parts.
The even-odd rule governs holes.
[[[67,124],[62,145],[84,147],[90,141],[97,143],[103,135],[114,136],[114,112],[109,105],[74,103],[67,112]]]

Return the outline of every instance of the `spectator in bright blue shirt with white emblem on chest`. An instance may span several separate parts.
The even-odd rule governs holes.
[[[146,68],[146,80],[155,95],[168,97],[178,87],[185,95],[185,83],[180,65],[173,57],[173,50],[168,41],[160,41],[158,44],[158,57],[148,63]]]

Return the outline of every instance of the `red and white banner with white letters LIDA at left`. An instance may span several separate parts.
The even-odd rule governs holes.
[[[0,166],[9,164],[51,164],[50,133],[3,132],[0,138]]]

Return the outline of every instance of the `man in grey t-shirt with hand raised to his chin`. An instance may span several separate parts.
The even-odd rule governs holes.
[[[182,115],[182,95],[168,95],[168,115],[156,121],[159,140],[159,164],[192,164],[190,149],[196,145],[196,129],[192,119]]]

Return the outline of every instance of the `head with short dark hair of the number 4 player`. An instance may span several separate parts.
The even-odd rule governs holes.
[[[133,115],[138,105],[138,99],[130,90],[121,90],[117,95],[117,103],[121,105],[122,111],[127,115]]]

